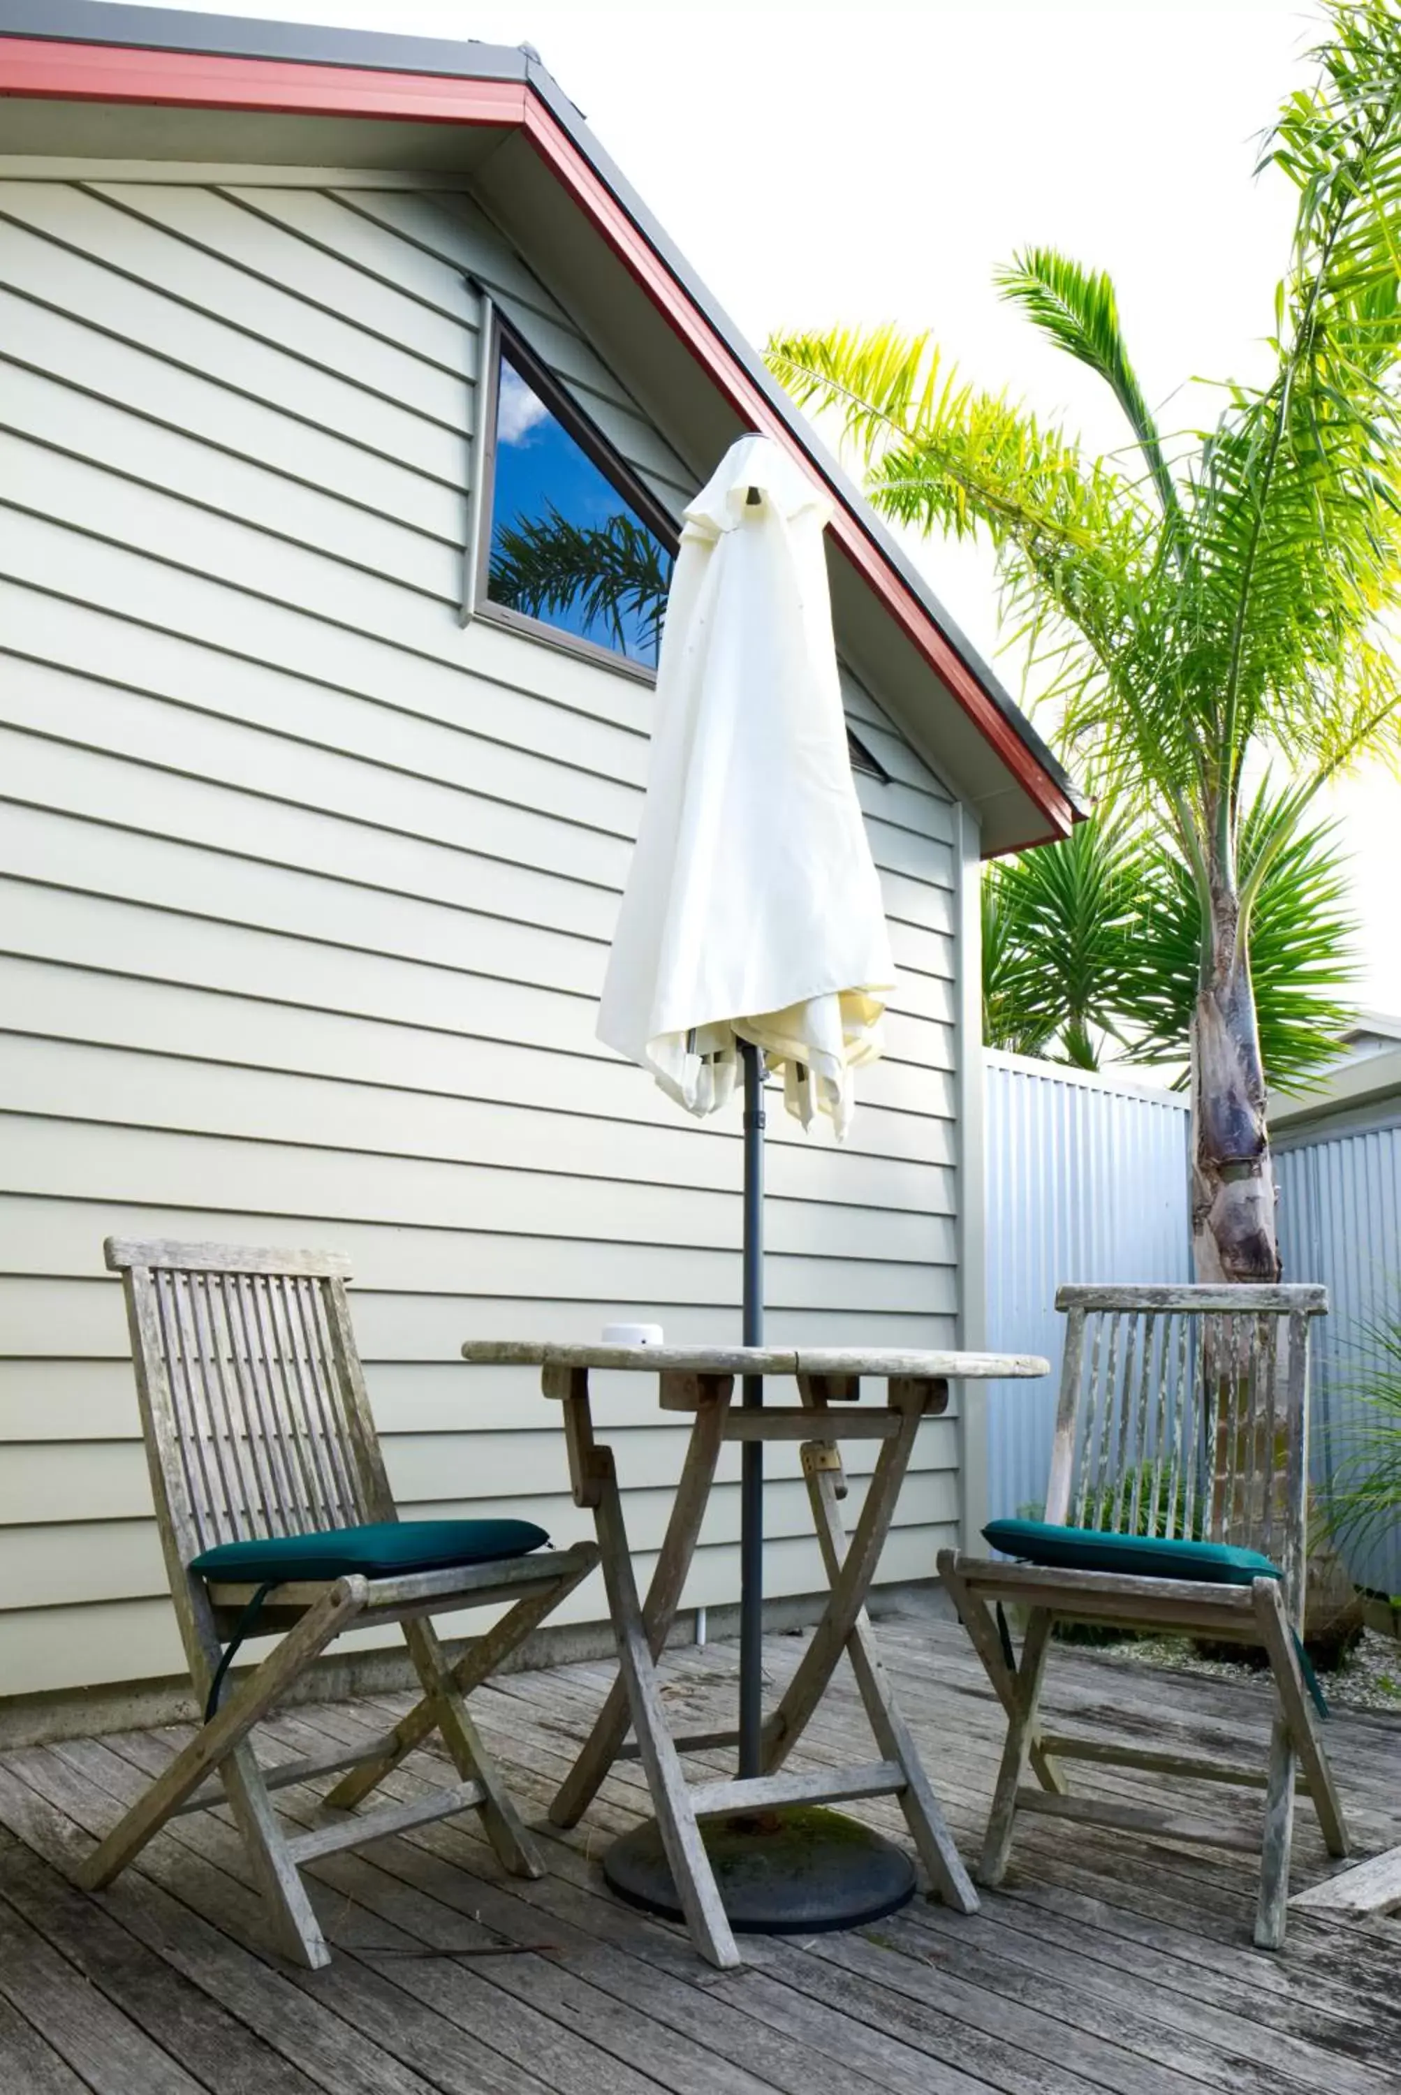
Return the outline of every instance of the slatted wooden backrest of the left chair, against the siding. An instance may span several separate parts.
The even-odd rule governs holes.
[[[161,1538],[218,1542],[392,1521],[350,1326],[350,1259],[107,1238],[121,1274]]]

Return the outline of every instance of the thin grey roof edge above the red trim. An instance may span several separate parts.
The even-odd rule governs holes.
[[[601,182],[637,224],[649,247],[666,264],[693,306],[720,335],[746,377],[760,388],[769,404],[787,423],[823,476],[840,490],[850,513],[875,545],[886,566],[894,570],[909,595],[938,626],[953,652],[972,670],[982,691],[1007,721],[1018,742],[1035,756],[1053,786],[1078,815],[1089,815],[1093,802],[1074,784],[1058,756],[1041,740],[1032,723],[1005,689],[1001,679],[972,645],[961,626],[938,601],[928,580],[909,559],[896,536],[869,507],[861,488],[827,450],[810,421],[790,400],[758,356],[743,331],[731,321],[714,293],[702,283],[685,256],[651,216],[622,170],[609,159],[588,130],[580,109],[563,92],[555,75],[526,48],[480,44],[431,36],[396,36],[379,29],[331,29],[316,23],[262,21],[243,15],[193,15],[176,8],[130,6],[126,0],[0,0],[0,38],[25,36],[69,44],[119,44],[144,50],[184,50],[216,57],[274,59],[297,65],[358,65],[371,71],[440,73],[457,80],[521,80],[540,96],[557,124],[591,163]]]

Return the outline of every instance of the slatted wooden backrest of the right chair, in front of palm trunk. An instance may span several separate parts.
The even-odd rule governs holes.
[[[1263,1550],[1303,1611],[1321,1286],[1064,1286],[1047,1521]]]

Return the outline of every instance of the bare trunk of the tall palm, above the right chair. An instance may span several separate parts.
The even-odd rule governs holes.
[[[1210,960],[1192,1018],[1192,1257],[1202,1282],[1280,1278],[1265,1068],[1238,901],[1213,880]]]

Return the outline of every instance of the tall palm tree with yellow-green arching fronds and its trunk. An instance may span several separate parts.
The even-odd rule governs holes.
[[[1154,811],[1189,869],[1202,941],[1189,1050],[1202,1280],[1275,1280],[1265,1068],[1250,922],[1324,784],[1401,752],[1386,618],[1401,597],[1401,13],[1334,0],[1317,78],[1261,166],[1298,191],[1273,375],[1229,385],[1215,427],[1169,442],[1114,285],[1049,249],[1003,293],[1114,394],[1131,446],[1087,457],[1007,394],[963,383],[928,335],[775,337],[800,402],[842,417],[871,501],[900,524],[982,534],[1003,614],[1060,706],[1064,748]],[[1288,777],[1242,867],[1246,760]]]

